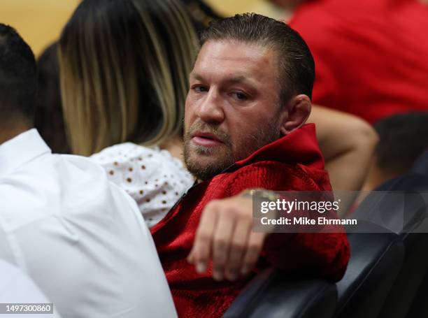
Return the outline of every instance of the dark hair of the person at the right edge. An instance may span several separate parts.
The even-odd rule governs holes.
[[[405,173],[428,149],[428,112],[393,115],[374,127],[379,134],[377,164],[383,171]]]

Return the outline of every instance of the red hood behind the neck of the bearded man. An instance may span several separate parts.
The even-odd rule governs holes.
[[[246,166],[257,161],[280,161],[298,163],[312,169],[324,169],[318,140],[315,134],[315,124],[305,124],[292,131],[287,136],[269,143],[256,150],[249,157],[236,161],[234,168]]]

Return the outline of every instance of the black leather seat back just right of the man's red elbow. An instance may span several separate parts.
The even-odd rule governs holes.
[[[358,233],[358,228],[372,233]],[[401,268],[404,245],[397,234],[370,222],[359,221],[352,231],[348,233],[350,262],[345,276],[336,284],[338,305],[334,317],[378,317]]]

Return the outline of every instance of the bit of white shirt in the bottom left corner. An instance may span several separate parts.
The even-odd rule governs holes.
[[[50,304],[48,298],[38,289],[30,277],[19,268],[0,259],[0,303],[43,303]],[[5,308],[3,308],[5,309]],[[60,318],[56,308],[52,307],[52,314],[37,314],[41,318]],[[29,314],[1,315],[0,317],[28,318]]]

